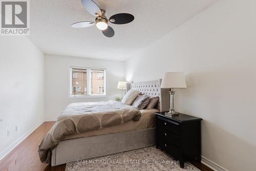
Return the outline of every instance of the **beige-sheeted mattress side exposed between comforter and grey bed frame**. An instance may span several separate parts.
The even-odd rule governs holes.
[[[101,130],[94,130],[90,132],[84,132],[75,135],[66,136],[63,140],[68,139],[76,139],[76,138],[83,138],[83,137],[91,137],[91,136],[98,136],[98,135],[105,135],[105,134],[113,134],[113,133],[121,133],[126,131],[135,131],[135,130],[143,130],[149,129],[151,127],[155,127],[155,112],[159,112],[157,109],[150,109],[150,110],[140,110],[141,117],[138,121],[128,121],[119,125],[105,127]]]

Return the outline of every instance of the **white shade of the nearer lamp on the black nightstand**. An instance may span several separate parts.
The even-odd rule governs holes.
[[[162,89],[187,88],[185,75],[183,72],[167,72],[163,75]]]

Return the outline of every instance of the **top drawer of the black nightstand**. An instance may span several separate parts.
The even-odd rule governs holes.
[[[161,117],[157,117],[157,126],[174,134],[179,134],[180,124]]]

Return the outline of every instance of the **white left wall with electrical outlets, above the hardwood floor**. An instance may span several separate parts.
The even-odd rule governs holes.
[[[44,54],[25,36],[1,36],[0,78],[1,160],[44,120]]]

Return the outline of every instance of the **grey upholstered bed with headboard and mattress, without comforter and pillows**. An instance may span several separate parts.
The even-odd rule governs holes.
[[[141,110],[138,121],[131,120],[101,130],[66,136],[51,149],[51,165],[56,166],[154,145],[154,112],[169,109],[168,90],[160,89],[160,85],[161,79],[128,83],[127,91],[134,89],[145,95],[158,95],[157,109]]]

